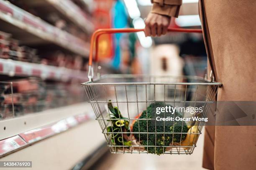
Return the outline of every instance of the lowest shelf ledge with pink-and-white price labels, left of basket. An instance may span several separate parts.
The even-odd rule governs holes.
[[[1,136],[1,138],[2,139],[4,138],[4,139],[0,140],[0,158],[16,150],[19,150],[29,145],[32,145],[34,143],[37,143],[38,141],[44,140],[56,134],[67,131],[71,128],[74,128],[77,125],[86,122],[87,120],[94,119],[95,116],[91,115],[90,112],[81,111],[81,108],[84,109],[86,108],[86,106],[88,107],[87,103],[74,104],[71,106],[46,110],[44,112],[39,113],[39,115],[28,115],[28,116],[18,117],[16,119],[10,119],[10,120],[5,120],[0,122],[1,126],[5,124],[8,125],[6,127],[6,130],[10,129],[11,128],[10,126],[17,126],[19,124],[22,125],[23,123],[18,123],[18,122],[24,122],[24,120],[27,122],[28,125],[29,124],[31,125],[33,124],[33,126],[37,125],[36,128],[32,128],[30,130],[28,130],[28,128],[31,128],[33,126],[26,127],[26,130],[21,133],[20,132],[17,133],[17,130],[21,131],[24,128],[15,127],[16,135],[11,137],[3,134],[3,137]],[[76,109],[79,108],[79,110],[76,110],[74,108]],[[70,110],[73,110],[74,112],[73,115],[72,114],[70,115]],[[60,112],[62,113],[65,112],[66,114],[58,114]],[[57,114],[57,115],[54,116],[54,114],[55,115]],[[49,123],[49,121],[45,121],[44,123],[47,123],[47,124],[43,124],[42,120],[37,120],[37,122],[35,122],[35,119],[42,118],[44,120],[47,120],[47,118],[49,119],[52,116],[55,118],[54,122]],[[58,117],[59,119],[60,117],[64,117],[64,118],[61,118],[61,120],[58,120],[57,119]],[[23,124],[23,126],[26,126],[26,125]],[[14,132],[11,132],[10,130],[9,134],[10,135],[14,134]]]

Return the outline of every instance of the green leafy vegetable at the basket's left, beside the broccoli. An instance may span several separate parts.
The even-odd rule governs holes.
[[[113,107],[111,100],[108,102],[108,108],[110,110],[110,119],[120,119],[120,120],[108,120],[111,121],[112,125],[107,127],[107,132],[110,135],[111,142],[113,145],[124,145],[131,146],[131,140],[129,140],[128,136],[131,134],[130,132],[130,122],[126,117],[123,117],[118,107]],[[122,133],[128,132],[128,133]]]

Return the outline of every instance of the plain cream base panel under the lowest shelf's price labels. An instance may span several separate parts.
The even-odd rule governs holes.
[[[98,122],[89,120],[0,159],[1,161],[30,160],[35,170],[72,170],[75,164],[91,153],[96,153],[102,143],[106,146]],[[78,167],[75,170],[79,170]]]

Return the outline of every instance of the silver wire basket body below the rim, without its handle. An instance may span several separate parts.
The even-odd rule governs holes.
[[[164,103],[169,103],[169,102],[174,102],[174,103],[180,103],[180,102],[184,102],[184,105],[185,103],[187,102],[190,102],[190,103],[197,103],[197,102],[200,102],[202,105],[204,105],[205,107],[205,111],[203,112],[203,115],[202,117],[206,117],[206,114],[209,110],[209,105],[210,103],[213,103],[214,100],[215,100],[215,95],[217,93],[217,88],[221,85],[220,83],[218,82],[208,82],[208,81],[205,81],[205,82],[162,82],[162,83],[159,83],[159,82],[116,82],[116,83],[109,83],[109,82],[100,82],[102,79],[119,79],[119,78],[124,78],[124,79],[130,79],[131,77],[153,77],[154,76],[148,76],[148,75],[136,75],[136,76],[132,76],[132,75],[104,75],[102,76],[101,78],[99,78],[98,80],[95,80],[95,81],[89,81],[89,82],[85,82],[85,83],[82,83],[82,85],[84,86],[84,89],[87,93],[87,96],[89,98],[89,102],[91,103],[92,105],[92,108],[96,114],[96,120],[99,121],[100,123],[100,127],[102,129],[102,133],[105,135],[105,139],[107,140],[108,142],[108,147],[110,148],[110,151],[111,153],[148,153],[148,152],[143,152],[141,151],[141,148],[148,148],[148,147],[165,147],[165,148],[171,148],[171,150],[169,150],[169,152],[163,152],[163,153],[169,153],[169,154],[192,154],[193,151],[194,151],[194,148],[196,147],[196,143],[197,143],[197,140],[198,140],[198,137],[197,138],[194,138],[193,142],[192,142],[192,145],[188,145],[187,146],[181,146],[181,143],[182,141],[180,141],[179,145],[173,145],[173,139],[172,139],[172,146],[167,146],[167,145],[163,145],[163,146],[158,146],[158,145],[132,145],[131,147],[128,146],[128,145],[114,145],[112,142],[111,142],[111,137],[110,135],[115,135],[115,134],[121,134],[122,137],[124,134],[127,134],[128,132],[108,132],[107,131],[107,127],[108,126],[112,126],[112,131],[113,131],[113,125],[111,123],[109,123],[109,121],[111,120],[128,120],[129,122],[132,122],[133,120],[137,120],[138,122],[140,120],[154,120],[154,119],[139,119],[139,118],[133,118],[131,117],[131,113],[129,112],[129,103],[136,103],[137,105],[137,115],[139,115],[139,107],[138,105],[142,105],[142,104],[145,104],[145,108],[148,107],[149,103],[152,103],[152,102],[164,102]],[[163,76],[164,78],[166,78],[166,76]],[[161,78],[161,76],[157,76],[157,78]],[[190,76],[190,78],[194,78],[194,79],[197,79],[197,80],[202,80],[202,78],[199,78],[199,77],[192,77]],[[163,86],[164,87],[164,100],[155,100],[155,94],[156,94],[156,86],[159,85],[159,86]],[[170,87],[168,88],[169,85],[172,85],[174,87],[174,99],[173,100],[166,100],[166,94],[167,94],[167,90],[170,89]],[[146,100],[138,100],[138,86],[144,86],[145,87],[145,92],[144,92],[144,95],[146,96]],[[182,86],[184,87],[184,100],[177,100],[177,94],[179,90],[177,90],[178,86]],[[194,100],[190,100],[190,101],[187,101],[186,100],[186,96],[187,96],[187,92],[188,92],[188,86],[196,86],[196,91],[195,91],[195,98]],[[115,100],[112,100],[111,102],[115,105],[117,105],[118,109],[120,107],[120,105],[127,105],[127,112],[128,112],[128,118],[127,119],[121,119],[121,118],[118,118],[118,119],[111,119],[110,118],[110,110],[108,109],[105,109],[104,105],[107,105],[108,102],[109,102],[109,98],[108,98],[108,95],[107,95],[107,89],[112,87],[114,89],[114,94],[113,96],[115,97]],[[118,87],[124,87],[123,89],[123,94],[125,94],[125,97],[124,99],[126,100],[120,100],[118,98],[118,90],[117,88]],[[129,100],[128,99],[128,88],[129,87],[135,87],[135,90],[136,90],[136,100]],[[154,87],[154,98],[153,100],[147,100],[148,99],[148,88],[150,87]],[[200,88],[204,88],[205,89],[205,100],[204,101],[198,101],[197,100],[197,93],[198,93],[198,89]],[[103,93],[100,94],[100,93]],[[175,104],[174,104],[175,105]],[[122,110],[120,110],[122,112]],[[174,115],[175,116],[175,115]],[[184,116],[184,113],[183,115]],[[203,122],[199,122],[198,123],[198,131],[196,133],[192,133],[192,132],[182,132],[182,133],[174,133],[174,132],[154,132],[154,133],[150,133],[150,132],[130,132],[132,135],[133,134],[164,134],[164,135],[172,135],[172,138],[174,138],[174,134],[186,134],[186,135],[189,135],[189,138],[190,138],[190,135],[192,134],[197,134],[198,136],[201,134],[201,131],[202,131],[202,127],[203,127],[204,123]],[[165,127],[165,125],[164,125]],[[175,125],[174,125],[175,127]],[[182,126],[183,128],[183,126]],[[183,131],[183,130],[182,130]],[[131,140],[132,140],[132,135],[130,135],[131,137]],[[182,137],[182,135],[180,135]],[[124,141],[123,141],[124,142]],[[140,138],[139,138],[139,143],[140,143]],[[127,149],[129,148],[129,149]],[[133,148],[138,148],[138,150],[135,150]],[[184,149],[184,148],[187,148],[187,149]],[[164,150],[163,150],[164,151]]]

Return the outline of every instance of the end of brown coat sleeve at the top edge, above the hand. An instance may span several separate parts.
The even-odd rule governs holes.
[[[151,13],[178,17],[182,0],[151,0],[153,6]]]

